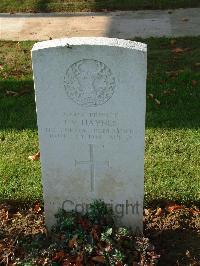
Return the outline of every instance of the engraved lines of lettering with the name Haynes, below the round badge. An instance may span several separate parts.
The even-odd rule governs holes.
[[[46,136],[53,139],[67,138],[81,142],[123,141],[134,138],[135,130],[130,125],[123,126],[118,112],[65,112],[61,127],[48,127]]]

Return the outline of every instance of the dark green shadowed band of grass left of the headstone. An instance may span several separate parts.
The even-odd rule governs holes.
[[[19,93],[19,96],[12,95]],[[9,95],[10,94],[10,95]],[[33,81],[0,81],[0,129],[36,129]]]

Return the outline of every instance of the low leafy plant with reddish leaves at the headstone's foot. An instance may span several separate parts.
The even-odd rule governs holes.
[[[113,221],[103,201],[94,201],[85,215],[59,210],[57,223],[48,237],[41,228],[34,235],[18,233],[15,255],[20,257],[10,258],[11,262],[30,266],[125,266],[154,262],[155,251],[146,239],[136,239],[129,229],[118,228],[114,223],[108,225],[108,218]]]

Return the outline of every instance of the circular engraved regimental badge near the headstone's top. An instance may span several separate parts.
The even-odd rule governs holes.
[[[111,70],[104,63],[82,59],[67,69],[64,86],[67,96],[75,103],[95,107],[112,97],[116,82]]]

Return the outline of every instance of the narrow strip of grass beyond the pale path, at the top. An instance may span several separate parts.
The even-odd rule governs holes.
[[[0,12],[110,11],[199,6],[199,0],[1,0]]]

